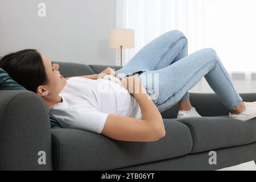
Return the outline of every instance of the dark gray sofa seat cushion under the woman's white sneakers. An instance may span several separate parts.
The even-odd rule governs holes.
[[[191,154],[256,142],[256,118],[240,121],[225,115],[182,118],[177,121],[184,123],[191,130],[193,139]]]

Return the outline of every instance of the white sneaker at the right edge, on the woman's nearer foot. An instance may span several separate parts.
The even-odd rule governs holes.
[[[240,114],[229,113],[230,118],[247,121],[256,117],[256,102],[243,102],[245,109]]]

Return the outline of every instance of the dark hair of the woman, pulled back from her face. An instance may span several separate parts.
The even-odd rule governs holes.
[[[24,49],[3,56],[0,60],[0,68],[4,69],[14,81],[35,93],[39,85],[48,83],[42,57],[36,49]]]

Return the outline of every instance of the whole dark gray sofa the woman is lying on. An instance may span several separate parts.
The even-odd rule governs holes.
[[[64,77],[100,73],[108,67],[55,63]],[[256,93],[241,97],[256,101]],[[0,90],[0,169],[216,170],[256,159],[256,118],[228,118],[228,109],[213,93],[191,93],[190,100],[202,118],[177,119],[175,105],[162,113],[164,138],[122,142],[84,130],[51,130],[41,97],[24,90]],[[44,164],[38,163],[39,151],[46,154]],[[210,163],[215,156],[217,163]]]

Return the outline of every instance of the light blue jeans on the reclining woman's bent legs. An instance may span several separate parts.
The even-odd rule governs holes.
[[[242,102],[214,49],[205,48],[188,55],[187,38],[178,30],[152,40],[116,72],[126,76],[139,73],[160,112],[188,100],[188,91],[203,77],[229,110]]]

